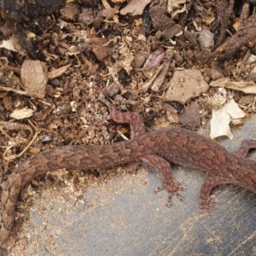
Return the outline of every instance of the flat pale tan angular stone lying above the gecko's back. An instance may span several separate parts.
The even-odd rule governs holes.
[[[196,69],[185,69],[175,71],[166,95],[165,102],[179,102],[185,104],[191,98],[200,96],[201,93],[209,89],[209,85],[204,81],[201,72]]]

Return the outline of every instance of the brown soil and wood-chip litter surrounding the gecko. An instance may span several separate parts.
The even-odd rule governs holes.
[[[256,1],[17,2],[0,6],[0,182],[42,150],[129,138],[129,126],[107,119],[101,93],[119,111],[140,113],[148,131],[171,125],[197,131],[230,99],[247,116],[255,112]],[[175,97],[173,74],[187,70],[199,74],[183,73],[190,84]],[[224,96],[219,106],[216,96]],[[33,180],[20,195],[15,231],[42,190],[72,180],[79,197],[91,183],[137,166],[62,170]]]

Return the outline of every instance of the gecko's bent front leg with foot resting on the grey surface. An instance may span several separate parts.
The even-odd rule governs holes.
[[[226,177],[209,177],[201,185],[200,212],[210,212],[211,209],[218,209],[218,200],[214,195],[210,195],[212,189],[218,185],[234,183]]]

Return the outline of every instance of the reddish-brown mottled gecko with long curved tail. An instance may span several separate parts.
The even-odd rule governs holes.
[[[256,162],[244,159],[256,141],[244,141],[237,154],[202,137],[195,132],[169,128],[145,133],[143,119],[138,113],[119,113],[112,104],[100,98],[109,110],[109,118],[118,123],[130,123],[131,140],[104,146],[63,146],[45,150],[25,160],[3,182],[1,210],[3,224],[0,230],[0,246],[6,243],[15,220],[15,205],[20,190],[33,178],[42,177],[56,169],[96,169],[119,166],[133,160],[143,160],[162,172],[163,187],[170,195],[178,195],[183,189],[172,180],[170,163],[207,172],[201,187],[201,207],[212,203],[213,187],[235,183],[256,193]]]

